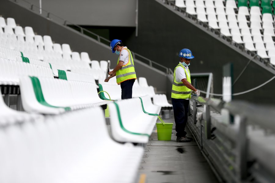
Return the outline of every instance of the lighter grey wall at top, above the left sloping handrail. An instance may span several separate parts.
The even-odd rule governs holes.
[[[27,1],[39,7],[39,0]],[[42,9],[77,25],[135,27],[136,4],[137,0],[42,0]]]

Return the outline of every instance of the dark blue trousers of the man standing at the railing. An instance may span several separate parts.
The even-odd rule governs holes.
[[[187,134],[185,131],[185,126],[187,124],[189,100],[173,98],[171,100],[176,123],[176,135],[177,137],[184,137]]]

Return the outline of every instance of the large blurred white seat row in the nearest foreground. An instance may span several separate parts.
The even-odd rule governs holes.
[[[114,142],[99,107],[11,123],[0,137],[1,182],[128,183],[144,151]]]

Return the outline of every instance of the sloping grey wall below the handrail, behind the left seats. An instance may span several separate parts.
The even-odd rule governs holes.
[[[56,43],[68,43],[73,51],[88,52],[90,59],[110,60],[111,67],[116,66],[118,56],[112,54],[108,45],[101,44],[69,27],[54,23],[14,2],[1,0],[0,15],[5,18],[13,17],[20,26],[31,26],[35,32],[42,36],[50,35]],[[137,59],[134,59],[134,64],[137,77],[146,77],[149,85],[156,87],[159,91],[166,91],[166,74],[150,68]],[[155,82],[158,80],[161,82]]]

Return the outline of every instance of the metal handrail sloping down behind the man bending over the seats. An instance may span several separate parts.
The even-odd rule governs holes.
[[[16,3],[18,3],[19,1],[26,2],[26,3],[28,3],[29,5],[31,5],[30,9],[31,9],[32,11],[35,11],[34,7],[39,9],[38,6],[31,4],[30,2],[28,2],[28,1],[26,1],[26,0],[10,0],[10,1],[16,2]],[[63,25],[64,25],[64,26],[67,26],[68,24],[73,25],[73,26],[75,26],[75,27],[77,27],[77,28],[80,29],[80,33],[81,33],[81,34],[84,34],[84,32],[87,32],[87,33],[89,33],[89,34],[92,34],[92,35],[94,35],[94,36],[96,37],[96,40],[97,40],[98,42],[102,43],[102,44],[105,44],[105,45],[108,45],[108,46],[109,46],[109,43],[111,42],[110,40],[108,40],[108,39],[106,39],[106,38],[103,38],[103,37],[99,36],[98,34],[95,34],[94,32],[91,32],[90,30],[87,30],[87,29],[85,29],[85,28],[83,28],[83,27],[81,27],[81,26],[79,26],[79,25],[76,25],[76,24],[74,24],[74,23],[72,23],[72,22],[70,22],[70,21],[68,21],[68,20],[65,20],[65,19],[61,18],[60,16],[57,16],[57,15],[55,15],[55,14],[53,14],[53,13],[50,13],[50,12],[44,10],[44,9],[42,9],[42,12],[46,13],[46,18],[47,18],[48,20],[52,20],[52,21],[54,20],[54,19],[51,19],[50,16],[57,17],[58,19],[60,19],[60,20],[63,21]],[[102,42],[101,40],[104,40],[105,42]],[[108,43],[108,44],[106,44],[106,43]],[[131,52],[132,52],[132,51],[131,51]],[[163,65],[161,65],[161,64],[159,64],[159,63],[157,63],[157,62],[154,62],[154,61],[152,61],[152,60],[150,60],[150,59],[148,59],[148,58],[146,58],[146,57],[144,57],[144,56],[141,56],[141,55],[139,55],[139,54],[137,54],[137,53],[132,52],[132,55],[134,56],[134,58],[135,58],[135,56],[138,56],[138,57],[140,57],[140,58],[142,58],[142,59],[148,61],[148,62],[149,62],[148,65],[149,65],[150,67],[153,67],[153,64],[156,64],[157,66],[160,66],[161,68],[165,69],[165,73],[166,73],[166,74],[169,74],[169,68],[167,68],[167,67],[165,67],[165,66],[163,66]]]

